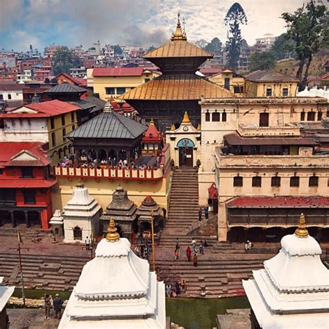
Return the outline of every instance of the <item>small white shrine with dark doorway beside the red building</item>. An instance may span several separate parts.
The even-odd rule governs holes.
[[[100,213],[101,205],[90,196],[83,183],[78,183],[62,212],[64,242],[84,242],[86,237],[99,235]]]

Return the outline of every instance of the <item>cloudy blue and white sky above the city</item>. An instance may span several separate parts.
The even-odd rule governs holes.
[[[178,10],[185,17],[191,42],[219,37],[230,0],[0,0],[0,49],[26,51],[30,44],[43,52],[55,43],[85,49],[101,44],[160,45],[169,40]],[[253,44],[265,33],[280,35],[282,12],[293,12],[303,0],[240,0],[248,18],[242,37]]]

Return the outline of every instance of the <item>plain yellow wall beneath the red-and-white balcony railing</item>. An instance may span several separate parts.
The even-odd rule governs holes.
[[[58,184],[51,189],[51,199],[53,202],[53,211],[56,209],[62,210],[72,197],[72,192],[76,184],[79,183],[79,178],[72,177],[70,180],[64,177],[57,177]],[[112,194],[115,189],[121,185],[128,192],[128,198],[140,206],[146,196],[152,196],[160,207],[168,208],[169,192],[171,188],[171,172],[167,177],[160,180],[140,181],[137,180],[108,180],[94,178],[84,178],[85,186],[89,194],[99,202],[103,210],[112,201]]]

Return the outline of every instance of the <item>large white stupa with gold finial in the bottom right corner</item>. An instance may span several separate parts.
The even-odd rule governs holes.
[[[281,246],[264,269],[253,271],[253,280],[242,281],[252,319],[263,329],[329,328],[329,271],[303,214],[295,233],[282,237]]]

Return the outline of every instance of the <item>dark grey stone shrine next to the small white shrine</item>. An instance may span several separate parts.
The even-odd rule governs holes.
[[[117,229],[121,237],[131,239],[133,233],[137,233],[137,205],[128,199],[126,189],[120,185],[115,189],[112,202],[106,207],[101,215],[103,233],[108,230],[108,223],[113,217],[117,224]]]

